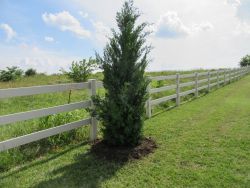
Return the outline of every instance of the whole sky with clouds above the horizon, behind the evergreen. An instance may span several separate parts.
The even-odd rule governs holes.
[[[58,73],[102,54],[120,0],[0,0],[0,69]],[[250,0],[134,0],[152,34],[147,71],[232,68],[250,54]]]

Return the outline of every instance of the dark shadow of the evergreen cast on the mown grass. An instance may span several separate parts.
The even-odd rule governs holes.
[[[43,187],[99,187],[110,179],[125,162],[110,162],[87,152],[75,156],[75,162],[49,173],[51,179],[34,186]]]

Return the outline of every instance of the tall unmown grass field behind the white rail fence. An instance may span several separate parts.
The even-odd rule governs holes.
[[[191,70],[191,71],[182,71],[181,74],[186,74],[190,72],[202,72],[205,70]],[[160,76],[160,75],[170,75],[175,74],[176,71],[163,71],[163,72],[150,72],[147,73],[149,76]],[[97,73],[92,75],[90,78],[95,78],[101,80],[103,75],[101,73]],[[182,82],[190,81],[192,79],[183,79]],[[0,89],[2,88],[17,88],[17,87],[28,87],[28,86],[36,86],[36,85],[51,85],[51,84],[61,84],[61,83],[69,83],[71,80],[67,79],[65,75],[43,75],[39,74],[34,77],[23,77],[19,80],[13,82],[0,82]],[[172,81],[153,81],[152,87],[161,87],[164,85],[173,84],[175,80]],[[185,88],[185,90],[190,89]],[[152,95],[152,99],[163,97],[166,95],[173,94],[175,90],[161,92]],[[99,89],[98,94],[103,95],[104,90]],[[185,97],[183,101],[191,98],[192,96]],[[88,90],[73,90],[71,93],[71,102],[78,102],[89,100],[89,91]],[[0,100],[0,115],[6,115],[11,113],[18,113],[24,111],[30,111],[40,108],[53,107],[57,105],[67,104],[69,101],[69,91],[58,92],[58,93],[48,93],[41,95],[33,95],[33,96],[25,96],[25,97],[14,97],[9,99]],[[154,114],[173,106],[175,103],[172,101],[168,101],[163,103],[153,109]],[[65,116],[65,114],[64,114]],[[75,110],[71,112],[73,118],[62,120],[62,122],[52,122],[54,126],[61,125],[62,123],[69,123],[72,121],[77,121],[89,116],[86,110]],[[63,115],[58,117],[57,119],[62,119]],[[61,120],[60,120],[61,121]],[[58,123],[58,124],[57,124]],[[45,127],[41,126],[41,119],[32,119],[17,123],[8,124],[0,127],[0,141],[7,140],[13,137],[26,135],[35,131],[43,130]],[[46,126],[46,128],[49,128]],[[83,127],[77,129],[77,136],[72,140],[72,145],[79,143],[80,141],[87,141],[89,137],[88,127]],[[54,138],[54,137],[53,137]],[[44,139],[46,140],[46,139]],[[42,142],[44,141],[42,140]],[[47,139],[48,140],[48,139]],[[65,143],[68,145],[69,143]],[[56,149],[60,149],[58,145],[56,145]],[[0,172],[6,171],[11,167],[16,165],[25,163],[26,161],[33,160],[37,157],[41,157],[47,152],[54,152],[53,148],[49,147],[49,144],[42,144],[40,141],[25,145],[24,147],[18,147],[15,149],[11,149],[7,152],[0,153]]]

